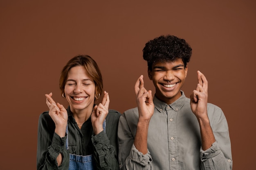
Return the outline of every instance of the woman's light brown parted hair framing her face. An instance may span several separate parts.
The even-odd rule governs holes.
[[[61,72],[60,76],[60,89],[61,94],[64,94],[65,84],[67,81],[67,73],[69,70],[76,66],[84,66],[85,70],[89,73],[89,75],[92,77],[94,84],[95,84],[95,96],[98,97],[103,92],[103,81],[101,76],[101,71],[99,70],[99,67],[97,63],[92,59],[92,57],[88,55],[78,55],[70,59],[70,61],[67,62],[67,64],[63,67],[63,70]],[[95,98],[96,100],[96,98]]]

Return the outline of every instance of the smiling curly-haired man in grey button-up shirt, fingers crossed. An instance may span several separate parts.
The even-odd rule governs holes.
[[[135,83],[137,108],[119,119],[119,163],[124,170],[231,170],[231,144],[222,110],[207,103],[208,82],[198,71],[190,99],[181,91],[192,49],[167,35],[148,41],[143,58],[155,96]]]

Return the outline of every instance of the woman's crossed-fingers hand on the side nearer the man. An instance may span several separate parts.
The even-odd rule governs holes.
[[[103,122],[108,115],[109,102],[110,100],[108,93],[104,91],[104,97],[102,99],[102,102],[99,105],[94,106],[93,108],[91,120],[92,128],[95,135],[103,131]]]

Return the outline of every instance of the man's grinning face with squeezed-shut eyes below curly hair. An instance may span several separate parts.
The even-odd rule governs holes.
[[[166,102],[173,103],[181,96],[180,89],[185,81],[188,68],[184,68],[182,59],[170,62],[157,62],[148,70],[148,76],[155,85],[155,96]]]

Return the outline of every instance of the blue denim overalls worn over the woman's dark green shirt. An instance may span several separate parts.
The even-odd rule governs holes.
[[[67,139],[66,139],[66,149],[68,150],[68,129],[66,128]],[[106,119],[103,122],[103,130],[106,133]],[[70,154],[70,166],[69,170],[93,170],[93,158],[92,155],[81,156]]]

